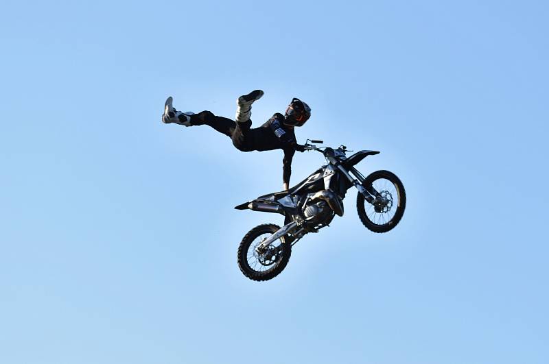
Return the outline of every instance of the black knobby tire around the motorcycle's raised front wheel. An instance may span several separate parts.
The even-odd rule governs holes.
[[[356,197],[358,217],[360,217],[360,221],[362,221],[362,223],[364,224],[364,226],[366,226],[366,228],[368,228],[368,230],[371,230],[373,232],[388,232],[389,230],[397,226],[397,223],[399,223],[400,219],[402,219],[402,216],[404,215],[404,208],[406,208],[406,191],[404,191],[404,185],[399,180],[399,178],[395,175],[395,173],[390,171],[375,171],[371,173],[368,177],[366,177],[364,182],[362,182],[362,186],[365,189],[369,189],[371,188],[373,183],[375,184],[375,181],[377,180],[388,180],[394,186],[396,195],[393,196],[394,192],[393,194],[391,194],[391,197],[393,197],[393,202],[395,197],[398,198],[397,203],[390,208],[391,210],[396,208],[394,215],[392,217],[388,217],[388,221],[385,221],[384,219],[379,219],[379,221],[377,222],[382,223],[376,223],[375,217],[373,217],[373,215],[377,212],[371,211],[371,208],[373,208],[373,206],[369,204],[369,202],[364,199],[364,195],[359,192]],[[384,217],[384,213],[377,214],[381,217]]]

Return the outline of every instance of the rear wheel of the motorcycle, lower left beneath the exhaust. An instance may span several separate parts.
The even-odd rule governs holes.
[[[238,267],[251,280],[270,280],[280,274],[288,264],[292,245],[281,237],[265,250],[258,252],[257,246],[280,229],[280,226],[266,223],[253,228],[242,238],[238,247]]]

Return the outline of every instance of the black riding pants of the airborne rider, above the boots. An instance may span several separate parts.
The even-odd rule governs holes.
[[[246,123],[236,123],[226,117],[218,117],[213,112],[202,111],[191,116],[192,125],[209,125],[221,134],[229,136],[233,145],[241,151],[253,150],[253,141],[250,132],[252,121]]]

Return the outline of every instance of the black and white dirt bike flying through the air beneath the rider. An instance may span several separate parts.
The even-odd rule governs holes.
[[[310,143],[309,143],[310,142]],[[307,139],[305,150],[319,151],[327,160],[299,184],[277,193],[262,195],[235,206],[237,210],[278,213],[285,225],[256,226],[242,239],[237,262],[251,280],[270,280],[288,265],[292,246],[306,234],[329,226],[335,215],[343,216],[343,199],[351,187],[358,190],[358,217],[373,232],[388,232],[399,223],[406,207],[406,192],[399,178],[390,171],[375,171],[364,177],[355,168],[366,156],[379,151],[361,150],[347,157],[347,147],[317,147],[323,141]]]

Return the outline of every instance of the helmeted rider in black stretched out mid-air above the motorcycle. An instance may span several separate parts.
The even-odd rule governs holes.
[[[233,145],[241,151],[265,151],[282,149],[283,158],[283,189],[287,190],[292,174],[292,158],[295,151],[304,151],[303,145],[296,142],[294,127],[302,126],[311,116],[311,108],[300,99],[292,99],[285,114],[274,114],[259,128],[250,128],[252,104],[263,96],[263,91],[255,90],[237,99],[235,120],[218,117],[209,111],[198,114],[180,112],[172,106],[172,97],[165,104],[163,123],[179,125],[209,125],[218,132],[229,136]]]

